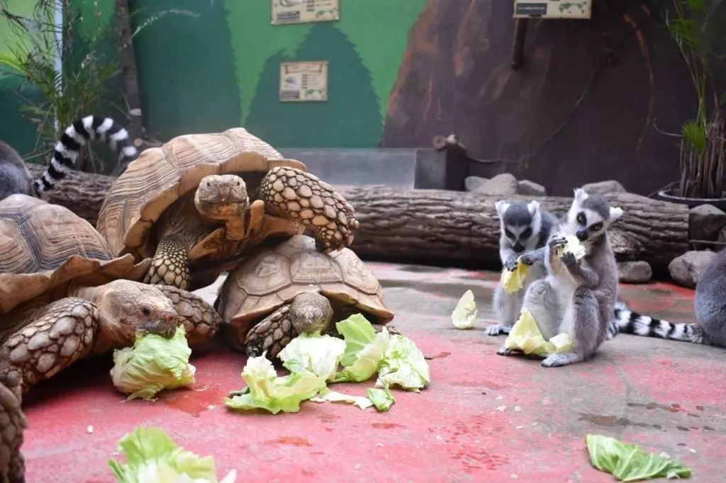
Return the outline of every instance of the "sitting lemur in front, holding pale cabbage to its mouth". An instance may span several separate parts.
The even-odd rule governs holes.
[[[534,316],[545,339],[566,332],[575,344],[574,352],[552,354],[542,366],[582,362],[608,337],[618,294],[618,271],[608,227],[622,213],[605,198],[576,189],[570,210],[552,228],[547,247],[523,256],[528,261],[544,257],[547,268],[544,280],[527,289],[523,307]],[[572,252],[558,255],[566,244],[564,237],[572,235],[585,247],[582,260],[576,260]],[[502,347],[497,353],[513,352]]]

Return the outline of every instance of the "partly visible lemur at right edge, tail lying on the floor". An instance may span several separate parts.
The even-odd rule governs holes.
[[[645,337],[726,347],[726,249],[717,253],[696,286],[699,323],[672,323],[641,315],[620,302],[615,309],[616,331]]]

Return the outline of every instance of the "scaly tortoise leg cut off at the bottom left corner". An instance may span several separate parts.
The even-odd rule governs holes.
[[[27,427],[20,399],[0,384],[0,482],[25,482],[25,461],[20,446],[23,429]]]

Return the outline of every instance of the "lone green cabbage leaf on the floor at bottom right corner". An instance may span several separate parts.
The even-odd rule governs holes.
[[[677,461],[648,453],[638,445],[630,445],[602,434],[585,437],[590,463],[622,482],[653,478],[690,478],[691,470]]]

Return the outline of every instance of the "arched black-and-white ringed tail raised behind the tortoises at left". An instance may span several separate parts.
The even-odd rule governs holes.
[[[136,157],[136,148],[131,144],[129,133],[110,117],[90,115],[75,120],[65,128],[65,132],[55,144],[48,169],[33,181],[33,189],[37,196],[47,189],[52,189],[56,181],[65,177],[68,170],[73,169],[78,153],[89,139],[99,139],[107,143],[118,153],[118,162],[126,163]]]

